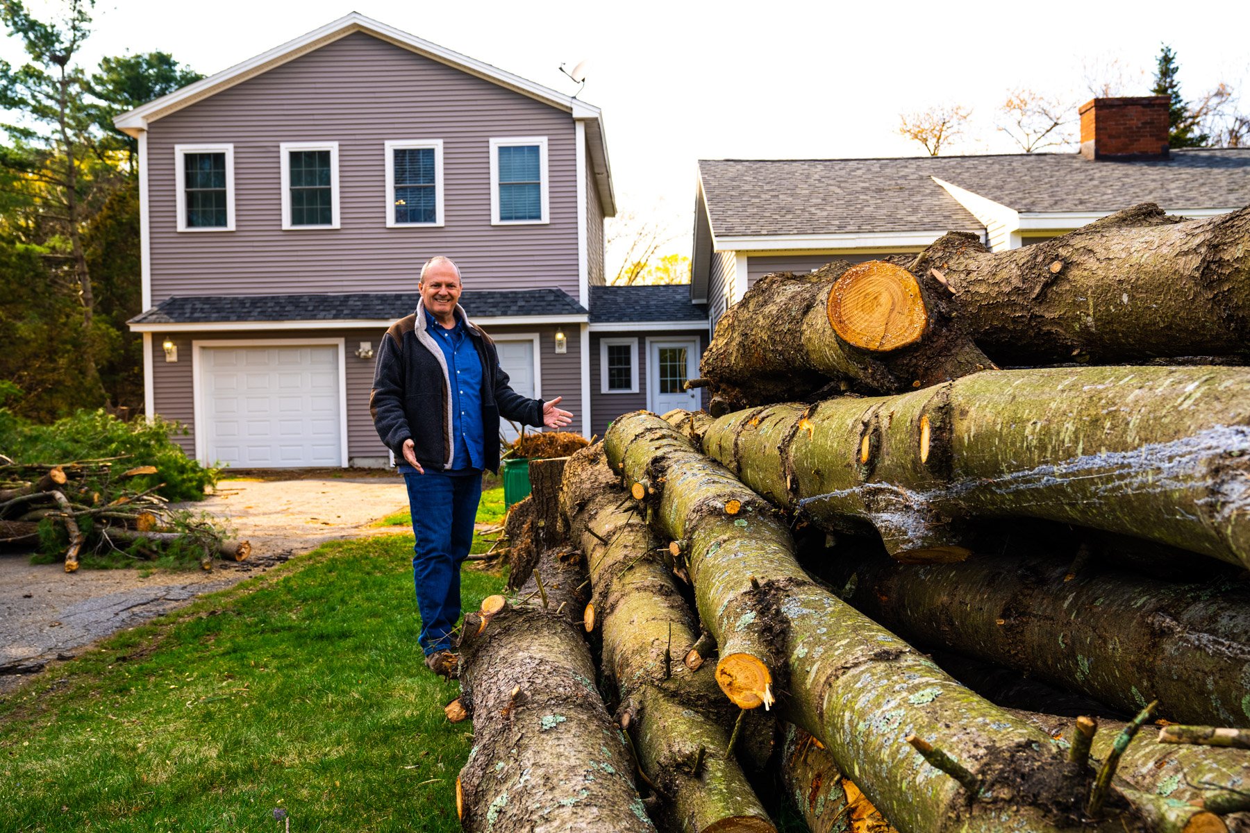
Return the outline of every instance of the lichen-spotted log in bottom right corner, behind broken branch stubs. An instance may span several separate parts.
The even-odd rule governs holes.
[[[1016,712],[1012,714],[1044,729],[1060,746],[1071,737],[1071,718]],[[1124,729],[1120,721],[1099,719],[1090,749],[1099,766]],[[1116,776],[1130,787],[1160,798],[1204,807],[1221,816],[1250,811],[1250,752],[1211,747],[1159,743],[1149,727],[1129,743]]]

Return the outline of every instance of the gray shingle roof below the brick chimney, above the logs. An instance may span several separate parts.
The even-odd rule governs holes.
[[[1250,149],[1174,150],[1149,162],[1080,154],[702,160],[699,171],[719,237],[981,229],[932,177],[1021,212],[1250,205]]]

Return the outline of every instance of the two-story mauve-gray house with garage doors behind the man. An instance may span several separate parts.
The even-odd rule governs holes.
[[[146,413],[201,461],[385,465],[374,352],[434,255],[512,387],[582,433],[698,406],[706,312],[604,286],[599,107],[350,14],[115,124],[139,141]]]

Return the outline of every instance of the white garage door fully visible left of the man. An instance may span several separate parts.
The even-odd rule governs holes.
[[[204,456],[239,468],[341,466],[339,346],[204,347]]]

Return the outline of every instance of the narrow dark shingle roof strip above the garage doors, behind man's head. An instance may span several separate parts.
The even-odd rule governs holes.
[[[419,297],[416,292],[182,296],[161,301],[131,323],[391,321],[415,310]],[[460,305],[470,318],[586,313],[580,303],[555,288],[465,290]]]

